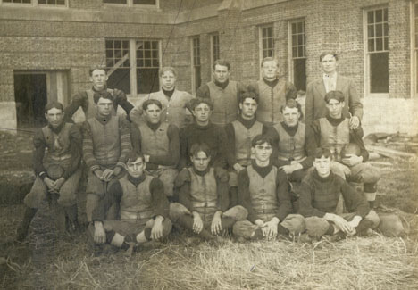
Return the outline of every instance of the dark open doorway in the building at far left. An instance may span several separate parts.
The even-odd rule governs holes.
[[[14,74],[18,128],[40,127],[46,124],[46,92],[46,73]]]

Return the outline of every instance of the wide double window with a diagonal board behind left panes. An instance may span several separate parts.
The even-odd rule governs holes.
[[[129,95],[159,89],[160,43],[158,40],[107,39],[107,84]]]

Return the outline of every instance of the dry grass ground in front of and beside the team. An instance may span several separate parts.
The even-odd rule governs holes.
[[[17,145],[13,150],[24,149]],[[17,153],[3,168],[0,193],[13,185],[16,195],[24,196],[21,178],[32,177],[24,154]],[[402,210],[411,228],[407,236],[376,234],[313,244],[227,239],[209,244],[190,242],[175,231],[162,244],[142,246],[132,257],[112,247],[95,257],[87,233],[57,236],[45,204],[32,222],[27,243],[0,248],[0,288],[417,289],[418,163],[383,158],[378,162],[378,204]],[[15,235],[24,208],[7,201],[0,207],[0,244]]]

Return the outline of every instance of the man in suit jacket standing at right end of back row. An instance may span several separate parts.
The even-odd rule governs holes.
[[[339,66],[337,54],[322,53],[320,62],[323,70],[322,78],[309,83],[306,89],[305,124],[310,125],[314,120],[327,115],[324,96],[330,91],[337,90],[344,94],[346,105],[343,108],[343,116],[350,118],[351,129],[357,128],[363,117],[363,104],[360,102],[353,81],[337,73]]]

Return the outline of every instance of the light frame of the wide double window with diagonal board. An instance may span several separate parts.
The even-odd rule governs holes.
[[[163,55],[162,55],[162,47],[161,47],[161,39],[158,38],[118,38],[118,37],[109,37],[105,38],[104,41],[128,41],[128,47],[129,47],[129,59],[130,59],[130,94],[127,92],[124,92],[125,95],[127,95],[130,98],[138,98],[143,97],[146,95],[149,95],[149,93],[145,94],[139,94],[138,93],[138,85],[137,85],[137,79],[138,74],[137,70],[140,69],[137,66],[137,42],[138,41],[156,41],[158,46],[158,70],[161,70],[163,67]],[[104,44],[104,50],[106,50],[106,46]],[[106,56],[106,62],[107,62],[107,56]],[[106,65],[106,70],[109,70],[110,68]],[[155,68],[156,69],[156,68]],[[109,77],[109,75],[108,75]],[[159,84],[161,84],[160,79]],[[113,87],[112,87],[113,88]]]

